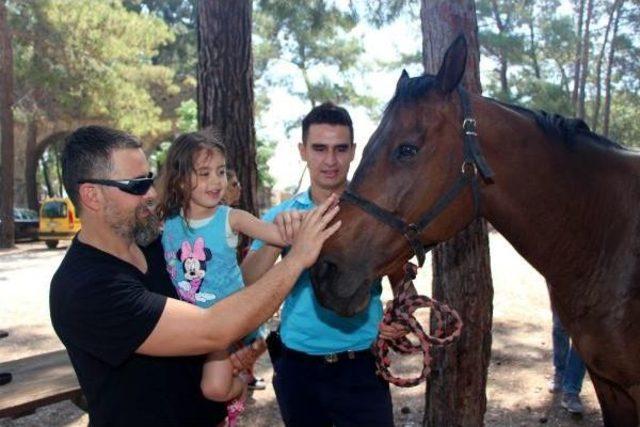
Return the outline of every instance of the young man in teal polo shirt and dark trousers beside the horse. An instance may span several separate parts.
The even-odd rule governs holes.
[[[311,187],[263,218],[273,221],[281,212],[292,212],[280,217],[290,222],[286,226],[292,230],[300,220],[296,212],[309,210],[346,187],[355,154],[347,110],[331,103],[314,107],[302,121],[299,150],[309,169]],[[279,248],[254,242],[243,262],[246,283],[255,282],[280,254]],[[318,303],[309,271],[300,275],[282,308],[280,345],[272,346],[279,351],[271,351],[273,385],[287,426],[393,425],[389,385],[376,375],[370,348],[379,328],[386,336],[404,332],[397,325],[380,325],[381,292],[377,283],[366,310],[341,317]]]

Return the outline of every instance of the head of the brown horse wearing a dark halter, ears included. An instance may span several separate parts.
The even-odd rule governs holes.
[[[337,218],[342,227],[311,270],[323,306],[344,316],[360,312],[376,278],[401,267],[418,251],[416,246],[447,240],[474,218],[471,186],[463,185],[428,226],[402,230],[433,212],[461,174],[477,173],[475,162],[463,153],[457,89],[466,60],[466,41],[458,37],[436,76],[410,78],[402,72],[343,195]]]

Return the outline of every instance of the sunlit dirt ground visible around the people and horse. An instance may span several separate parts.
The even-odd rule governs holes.
[[[552,373],[551,314],[544,280],[500,235],[492,234],[490,242],[495,298],[485,425],[602,425],[593,386],[588,379],[585,379],[582,392],[586,413],[581,418],[571,417],[562,410],[559,397],[547,391],[547,381]],[[42,242],[0,251],[0,330],[10,333],[0,341],[0,361],[62,348],[49,322],[48,285],[64,251],[64,247],[46,250]],[[425,265],[417,288],[420,293],[429,295],[430,261]],[[390,298],[388,287],[383,298]],[[405,371],[418,366],[419,361],[411,357],[393,369]],[[268,382],[271,380],[272,370],[267,357],[259,360],[257,374]],[[424,394],[424,385],[409,389],[392,386],[396,425],[422,424]],[[80,427],[87,423],[87,415],[70,402],[50,405],[16,419],[0,419],[0,427]],[[271,386],[252,394],[239,425],[282,425]]]

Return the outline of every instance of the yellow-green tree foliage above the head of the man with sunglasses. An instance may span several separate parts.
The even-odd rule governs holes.
[[[16,81],[52,119],[94,118],[140,136],[170,129],[154,94],[172,94],[174,72],[154,65],[173,40],[160,19],[118,1],[17,3]]]

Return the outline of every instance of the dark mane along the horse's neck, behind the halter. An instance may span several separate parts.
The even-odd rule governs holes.
[[[603,147],[627,150],[624,145],[611,141],[610,139],[593,132],[589,128],[589,125],[587,125],[582,119],[567,118],[560,114],[547,113],[544,110],[534,111],[519,105],[507,104],[492,98],[485,99],[491,100],[505,108],[533,118],[536,124],[547,135],[556,137],[556,139],[562,141],[569,148],[574,147],[580,137],[585,137]]]

